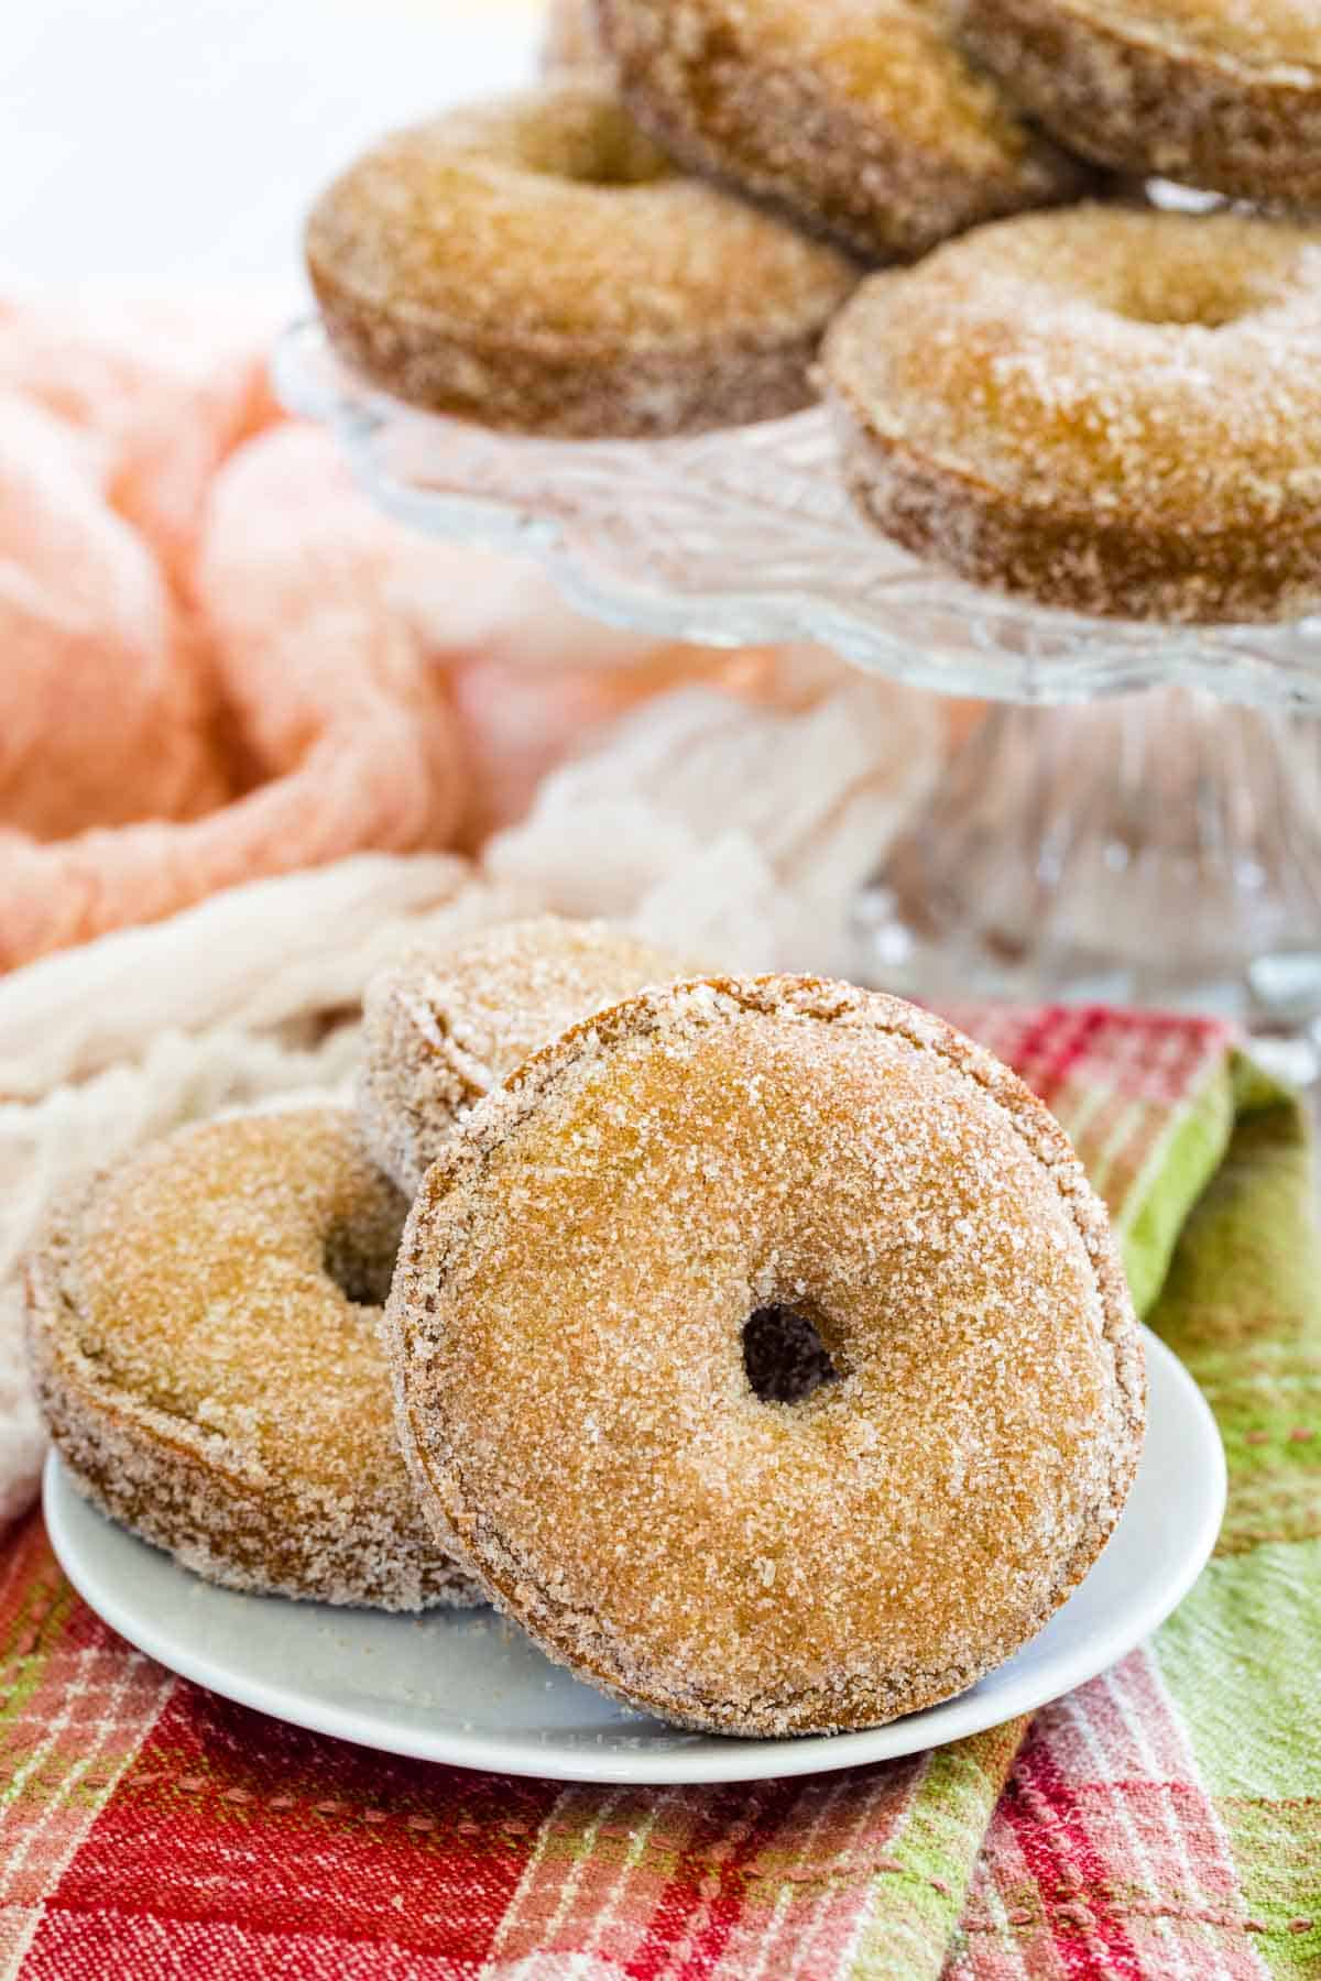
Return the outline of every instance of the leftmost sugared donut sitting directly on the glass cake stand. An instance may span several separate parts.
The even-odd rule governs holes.
[[[568,438],[806,406],[858,279],[834,250],[673,174],[590,75],[384,139],[317,200],[305,246],[331,341],[370,380]]]

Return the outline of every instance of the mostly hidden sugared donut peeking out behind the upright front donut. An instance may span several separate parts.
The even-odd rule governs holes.
[[[687,975],[604,921],[539,915],[378,971],[362,998],[358,1119],[408,1197],[463,1113],[578,1018]]]

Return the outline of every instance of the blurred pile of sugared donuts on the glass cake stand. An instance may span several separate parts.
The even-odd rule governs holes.
[[[418,406],[650,438],[824,394],[909,551],[1271,620],[1321,598],[1319,200],[1315,0],[559,0],[543,85],[360,156],[307,263]]]

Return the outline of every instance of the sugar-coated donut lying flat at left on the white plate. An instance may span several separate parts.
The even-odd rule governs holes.
[[[479,1601],[394,1438],[378,1329],[404,1208],[347,1107],[180,1129],[65,1206],[28,1266],[28,1343],[75,1488],[228,1589]]]

